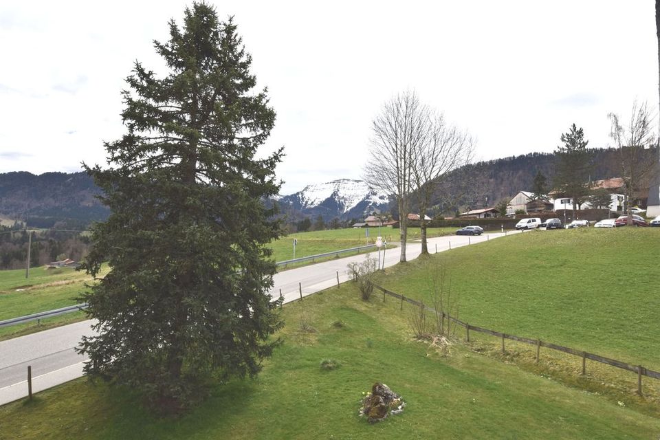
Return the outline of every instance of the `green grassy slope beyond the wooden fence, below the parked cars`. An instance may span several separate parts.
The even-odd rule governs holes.
[[[504,237],[438,259],[460,296],[461,320],[660,371],[659,252],[654,228],[580,228]],[[428,267],[388,272],[388,289],[430,303]]]

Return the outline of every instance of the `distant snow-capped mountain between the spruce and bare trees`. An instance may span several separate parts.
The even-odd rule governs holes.
[[[302,191],[281,197],[279,203],[307,216],[351,219],[362,218],[365,211],[386,210],[389,198],[365,181],[338,179],[307,185]]]

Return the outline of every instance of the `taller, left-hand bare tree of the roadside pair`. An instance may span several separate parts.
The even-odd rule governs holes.
[[[414,91],[398,94],[386,104],[375,120],[369,151],[364,166],[364,180],[385,192],[397,202],[402,263],[406,261],[408,214],[412,181],[412,162],[419,146],[428,142],[430,120],[428,107],[419,102]]]

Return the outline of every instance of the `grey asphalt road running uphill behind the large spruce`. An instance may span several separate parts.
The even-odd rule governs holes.
[[[516,234],[517,232],[508,232]],[[431,253],[443,252],[468,244],[482,243],[505,234],[494,233],[482,236],[445,236],[428,240]],[[421,253],[420,243],[408,243],[406,259],[416,259]],[[368,254],[378,259],[378,252]],[[387,250],[384,254],[384,267],[399,262],[400,249]],[[383,253],[381,252],[381,258]],[[333,259],[324,263],[286,270],[274,277],[274,287],[270,294],[280,293],[285,303],[307,296],[349,280],[347,265],[364,261],[365,255]],[[91,336],[91,320],[40,331],[20,338],[0,342],[0,405],[28,395],[28,365],[32,366],[32,391],[42,391],[83,375],[86,358],[74,351],[83,335]]]

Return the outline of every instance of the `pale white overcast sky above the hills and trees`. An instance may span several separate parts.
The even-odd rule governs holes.
[[[120,91],[135,60],[165,71],[186,1],[0,3],[0,173],[104,164],[124,133]],[[371,121],[414,89],[478,139],[478,159],[551,152],[570,124],[604,147],[609,112],[657,109],[652,0],[222,1],[234,15],[284,146],[282,194],[359,179]]]

